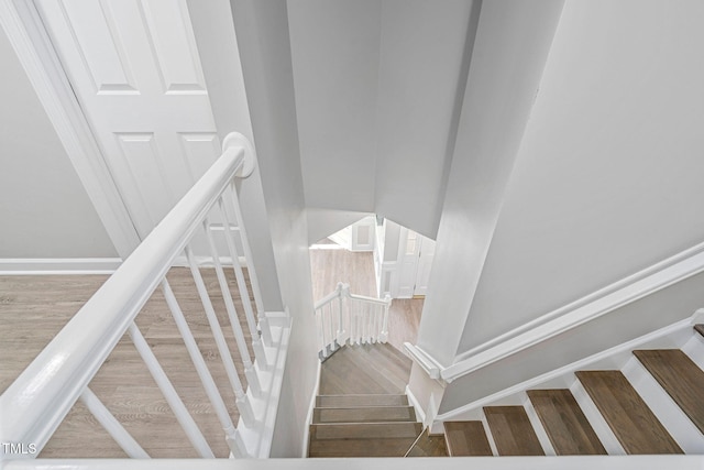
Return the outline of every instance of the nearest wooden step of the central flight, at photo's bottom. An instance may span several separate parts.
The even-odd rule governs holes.
[[[315,424],[308,457],[403,457],[421,431],[420,423]]]

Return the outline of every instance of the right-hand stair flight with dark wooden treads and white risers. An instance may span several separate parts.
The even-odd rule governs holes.
[[[695,326],[704,335],[704,326]],[[634,350],[622,370],[581,370],[569,387],[527,390],[477,419],[446,422],[451,456],[704,453],[704,338]],[[695,362],[696,361],[696,362]],[[516,398],[514,398],[516,400]]]

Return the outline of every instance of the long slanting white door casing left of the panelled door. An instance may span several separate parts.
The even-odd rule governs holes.
[[[118,254],[127,258],[140,237],[34,3],[0,0],[0,24]]]

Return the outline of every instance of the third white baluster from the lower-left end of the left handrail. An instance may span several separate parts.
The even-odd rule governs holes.
[[[230,418],[228,408],[222,401],[220,392],[218,391],[218,386],[216,385],[212,375],[210,375],[210,371],[208,370],[206,360],[202,358],[202,354],[198,349],[198,345],[196,343],[196,339],[194,338],[193,332],[190,332],[190,328],[188,328],[188,324],[186,323],[184,313],[182,311],[180,306],[178,305],[178,302],[174,296],[174,292],[172,291],[166,280],[162,281],[162,291],[164,292],[166,304],[172,311],[172,316],[174,317],[174,321],[176,323],[178,332],[180,332],[180,336],[184,339],[184,343],[186,343],[186,349],[188,350],[190,360],[196,367],[196,371],[198,372],[200,382],[202,383],[202,386],[208,394],[208,398],[210,398],[210,403],[212,404],[212,407],[218,415],[218,419],[220,419],[220,425],[222,426],[222,430],[224,431],[226,441],[230,447],[230,451],[232,451],[235,457],[246,457],[248,452],[244,448],[244,444],[242,442],[242,438],[237,433],[237,429],[232,424],[232,419]]]

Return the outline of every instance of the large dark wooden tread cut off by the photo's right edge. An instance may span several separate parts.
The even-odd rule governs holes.
[[[638,350],[634,354],[704,434],[704,371],[679,349]]]

